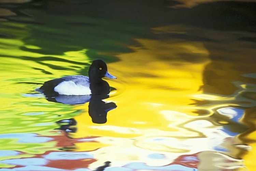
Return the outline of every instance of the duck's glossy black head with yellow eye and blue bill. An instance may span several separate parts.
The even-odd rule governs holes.
[[[101,79],[104,76],[110,79],[116,79],[115,76],[111,75],[108,72],[108,67],[106,66],[106,63],[101,59],[94,60],[93,63],[91,63],[88,75],[90,80]]]

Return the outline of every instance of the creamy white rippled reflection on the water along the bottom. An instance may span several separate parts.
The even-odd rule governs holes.
[[[236,108],[222,108],[218,111],[220,114],[228,115],[234,122],[238,122],[243,114],[242,109]],[[203,171],[209,169],[231,171],[237,168],[245,168],[243,160],[228,156],[234,145],[242,145],[236,144],[236,140],[234,140],[234,136],[239,133],[230,131],[230,128],[225,125],[215,125],[207,117],[195,120],[195,117],[180,112],[162,111],[161,113],[165,115],[166,119],[169,118],[170,122],[175,123],[171,124],[171,127],[177,128],[177,126],[181,127],[183,125],[183,128],[178,132],[144,129],[142,130],[143,136],[131,139],[94,138],[93,141],[108,144],[108,146],[91,152],[98,161],[92,163],[90,168],[96,168],[106,159],[111,159],[113,161],[112,165],[117,167],[116,169],[123,166],[130,169],[145,170],[197,170],[196,165],[200,165],[200,170]],[[97,126],[96,129],[105,130],[106,128],[111,127]],[[123,130],[122,133],[129,130],[129,128],[118,129]],[[118,129],[108,130],[118,132]],[[127,131],[125,131],[126,129]],[[128,131],[127,133],[131,132]],[[155,136],[156,134],[158,136]],[[211,154],[209,158],[205,156],[208,154]],[[210,161],[212,161],[211,164],[209,164]],[[182,164],[178,166],[176,162]],[[225,164],[226,162],[227,164]],[[181,168],[184,167],[185,163],[188,166]],[[111,171],[111,167],[108,170]]]

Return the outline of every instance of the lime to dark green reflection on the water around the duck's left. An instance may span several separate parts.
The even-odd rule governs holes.
[[[79,15],[54,15],[31,9],[23,12],[33,19],[17,16],[12,19],[18,22],[0,23],[3,35],[0,38],[3,61],[0,63],[1,134],[33,132],[54,136],[50,132],[59,128],[55,122],[73,118],[87,107],[81,105],[81,109],[74,110],[69,105],[49,103],[42,95],[34,94],[34,89],[44,81],[63,75],[87,75],[88,66],[94,59],[108,63],[117,61],[114,54],[131,52],[126,46],[134,43],[133,33],[127,31],[143,35],[143,30]],[[39,24],[33,24],[34,21]],[[9,158],[32,157],[29,154],[43,154],[59,148],[55,141],[19,143],[16,139],[1,139],[1,144],[6,144],[2,150],[28,154]],[[1,167],[11,166],[1,164]]]

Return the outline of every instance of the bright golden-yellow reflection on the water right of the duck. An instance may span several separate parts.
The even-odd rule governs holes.
[[[117,80],[107,80],[110,86],[117,89],[111,98],[106,99],[117,104],[116,109],[108,112],[108,122],[105,124],[113,128],[91,126],[96,124],[91,123],[85,110],[84,114],[75,117],[79,122],[78,132],[72,134],[73,138],[91,134],[131,138],[143,135],[142,130],[146,129],[175,132],[175,135],[180,128],[169,126],[178,120],[175,112],[198,115],[189,104],[193,103],[191,99],[195,94],[202,94],[202,73],[210,62],[209,53],[203,44],[176,40],[136,41],[140,47],[130,47],[134,52],[120,54],[118,62],[108,63],[109,72],[117,76]],[[190,62],[183,59],[188,54],[200,60],[191,59],[197,62]],[[82,107],[76,106],[75,109]],[[163,111],[171,111],[168,114],[172,119],[166,119]],[[180,115],[177,117],[182,118]],[[185,120],[188,119],[191,118]],[[128,130],[120,132],[120,127]]]

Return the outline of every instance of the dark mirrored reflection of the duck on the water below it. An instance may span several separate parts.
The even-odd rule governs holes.
[[[46,95],[46,99],[48,101],[63,103],[63,104],[73,105],[73,104],[84,104],[86,102],[89,102],[88,113],[89,113],[89,116],[91,117],[92,122],[95,124],[106,123],[108,112],[117,107],[117,105],[114,102],[106,103],[103,101],[103,99],[107,99],[107,98],[109,98],[109,95],[94,95],[94,96]],[[70,122],[70,123],[74,123],[74,122]],[[65,130],[67,130],[68,125],[69,124],[65,126]]]

